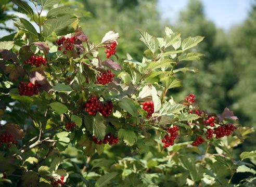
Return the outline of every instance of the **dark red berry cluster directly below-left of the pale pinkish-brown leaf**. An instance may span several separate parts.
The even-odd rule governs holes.
[[[38,88],[40,87],[40,84],[38,83],[23,83],[22,81],[20,82],[19,85],[19,92],[20,96],[33,96],[37,95],[39,93]]]

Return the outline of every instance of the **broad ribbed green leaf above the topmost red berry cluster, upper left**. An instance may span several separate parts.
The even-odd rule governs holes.
[[[58,18],[50,18],[43,25],[43,34],[45,37],[52,35],[65,35],[74,31],[71,24],[76,20],[76,17],[66,15]]]

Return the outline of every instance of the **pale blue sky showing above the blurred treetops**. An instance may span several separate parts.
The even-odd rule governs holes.
[[[206,17],[218,28],[228,30],[246,19],[253,0],[201,0]],[[180,10],[186,8],[188,0],[158,0],[163,19],[174,23]]]

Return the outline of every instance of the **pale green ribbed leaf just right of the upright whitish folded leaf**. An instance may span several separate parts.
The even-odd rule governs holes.
[[[171,104],[170,102],[165,102],[162,105],[162,108],[159,111],[159,115],[173,115],[176,114],[177,112],[180,112],[183,110],[185,106],[183,104]]]

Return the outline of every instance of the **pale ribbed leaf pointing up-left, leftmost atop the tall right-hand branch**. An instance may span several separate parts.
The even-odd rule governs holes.
[[[156,37],[149,35],[147,32],[139,30],[140,41],[142,41],[154,54],[158,50],[158,40]]]

